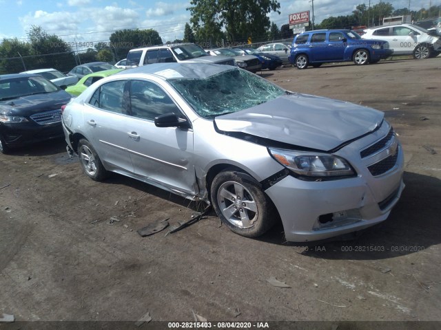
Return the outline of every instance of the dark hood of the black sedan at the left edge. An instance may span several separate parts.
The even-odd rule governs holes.
[[[60,109],[72,96],[65,91],[54,91],[48,94],[21,96],[13,100],[0,101],[0,113],[29,116],[50,110]]]

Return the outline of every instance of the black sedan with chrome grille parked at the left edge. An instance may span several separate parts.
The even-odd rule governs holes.
[[[61,106],[70,98],[39,74],[0,75],[0,153],[62,137]]]

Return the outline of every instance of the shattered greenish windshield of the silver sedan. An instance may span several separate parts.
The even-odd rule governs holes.
[[[242,69],[231,69],[208,78],[169,80],[202,117],[225,115],[274,100],[285,90]]]

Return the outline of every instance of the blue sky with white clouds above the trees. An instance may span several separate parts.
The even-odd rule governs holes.
[[[315,22],[331,16],[351,14],[356,5],[369,0],[314,0]],[[375,5],[380,0],[370,0]],[[384,0],[383,0],[384,1]],[[395,9],[407,8],[409,0],[386,0]],[[410,0],[411,10],[438,5],[441,0]],[[289,14],[311,10],[308,0],[279,0],[280,14],[269,18],[280,28],[288,23]],[[115,30],[152,28],[161,39],[183,39],[189,23],[189,0],[0,0],[0,41],[17,38],[23,41],[32,25],[40,25],[48,34],[57,34],[68,43],[108,42]]]

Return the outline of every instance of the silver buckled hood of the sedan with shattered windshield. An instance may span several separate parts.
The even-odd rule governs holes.
[[[220,115],[220,131],[240,132],[304,148],[331,150],[380,126],[384,113],[305,94],[280,96],[256,107]]]

